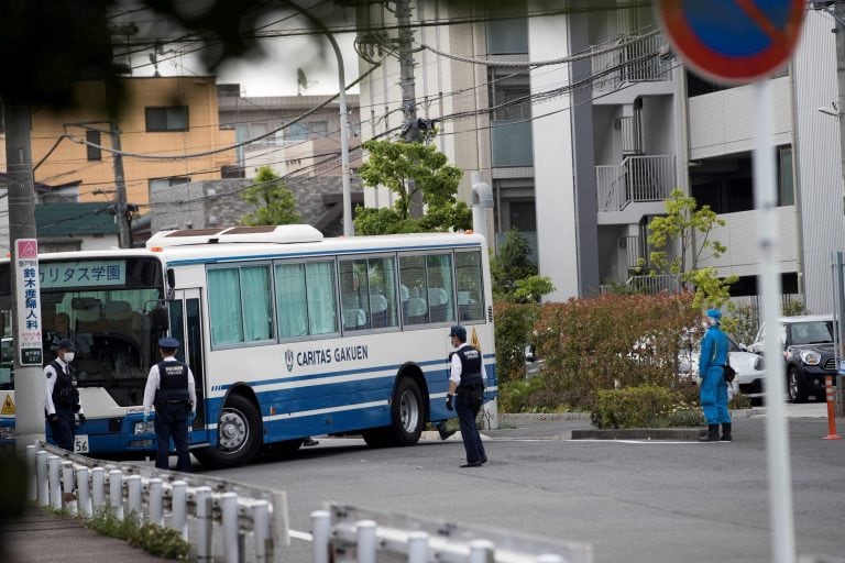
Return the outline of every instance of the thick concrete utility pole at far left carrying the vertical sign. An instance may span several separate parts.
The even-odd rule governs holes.
[[[14,354],[15,434],[18,448],[23,449],[35,440],[44,440],[44,388],[41,347],[41,296],[37,291],[37,256],[34,258],[35,296],[21,295],[23,287],[17,242],[35,240],[35,179],[32,172],[32,143],[30,135],[30,107],[18,100],[4,100],[6,162],[9,177],[9,246],[12,274],[12,334]],[[36,247],[36,245],[35,245]],[[29,301],[28,301],[29,299]],[[22,325],[21,319],[32,318]],[[31,329],[31,330],[30,330]],[[35,335],[28,343],[28,353],[21,351],[23,332]]]

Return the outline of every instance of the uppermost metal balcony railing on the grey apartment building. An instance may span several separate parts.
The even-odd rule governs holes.
[[[594,45],[593,76],[597,78],[593,80],[593,89],[613,91],[624,82],[668,80],[671,64],[660,56],[665,45],[663,35],[654,31]],[[616,48],[612,48],[614,46]]]

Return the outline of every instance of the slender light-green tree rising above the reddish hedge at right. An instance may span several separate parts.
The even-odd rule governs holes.
[[[699,263],[727,252],[711,238],[711,231],[724,224],[710,206],[699,207],[695,198],[673,189],[666,200],[666,216],[648,224],[648,244],[655,249],[649,254],[651,275],[669,275],[679,287],[694,290],[694,307],[721,307],[738,277],[720,278],[716,268],[699,267]]]

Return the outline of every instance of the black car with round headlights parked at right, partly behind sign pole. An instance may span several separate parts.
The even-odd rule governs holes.
[[[825,377],[836,376],[834,327],[831,314],[805,314],[778,319],[778,334],[787,362],[787,395],[804,402],[812,395],[824,400]],[[749,352],[762,354],[766,325],[761,324]]]

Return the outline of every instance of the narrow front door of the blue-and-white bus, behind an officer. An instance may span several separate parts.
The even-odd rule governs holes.
[[[197,418],[190,431],[190,443],[207,444],[206,430],[206,368],[202,353],[202,308],[197,288],[177,289],[171,301],[171,335],[180,346],[176,358],[190,366],[197,387]]]

